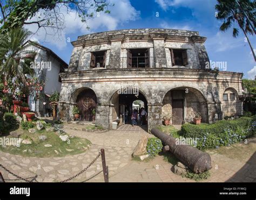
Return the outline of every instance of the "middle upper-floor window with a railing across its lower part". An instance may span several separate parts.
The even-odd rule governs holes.
[[[147,68],[149,59],[147,48],[127,49],[127,68]]]

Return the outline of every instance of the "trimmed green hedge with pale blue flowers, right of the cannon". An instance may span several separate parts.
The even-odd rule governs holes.
[[[208,149],[230,146],[255,133],[255,116],[234,120],[221,120],[214,124],[184,124],[181,135],[185,138],[197,138],[197,148]]]

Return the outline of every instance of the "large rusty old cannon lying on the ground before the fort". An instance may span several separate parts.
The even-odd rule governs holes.
[[[208,153],[190,145],[177,145],[176,139],[159,131],[157,128],[152,128],[151,133],[162,141],[167,151],[176,156],[192,172],[200,174],[212,168],[211,157]]]

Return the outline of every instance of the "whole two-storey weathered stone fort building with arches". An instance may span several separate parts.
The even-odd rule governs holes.
[[[60,74],[59,118],[74,120],[77,105],[80,120],[111,128],[135,100],[144,102],[149,128],[165,115],[176,116],[173,124],[198,112],[204,123],[242,115],[242,74],[212,70],[205,41],[196,31],[159,28],[78,37]]]

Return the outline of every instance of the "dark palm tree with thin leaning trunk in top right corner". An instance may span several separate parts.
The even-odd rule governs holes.
[[[233,37],[237,38],[239,34],[238,28],[235,27],[235,24],[241,28],[244,32],[245,37],[250,45],[253,58],[256,61],[256,56],[253,51],[253,47],[248,38],[247,33],[255,34],[255,2],[250,0],[240,0],[239,3],[234,0],[217,0],[218,4],[215,5],[215,9],[218,11],[217,19],[223,21],[223,24],[220,26],[220,31],[225,32],[228,28],[233,27]],[[246,15],[245,15],[246,13]],[[247,18],[248,17],[248,18]],[[253,26],[251,26],[251,22]]]

